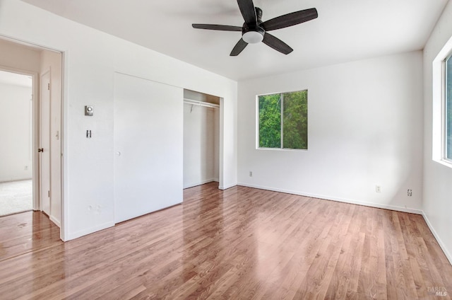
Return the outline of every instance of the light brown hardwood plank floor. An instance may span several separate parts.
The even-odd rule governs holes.
[[[66,243],[21,215],[0,218],[0,299],[451,299],[416,214],[211,183]]]

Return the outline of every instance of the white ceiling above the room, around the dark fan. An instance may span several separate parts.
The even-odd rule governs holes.
[[[254,0],[263,21],[317,8],[319,18],[271,33],[294,51],[263,43],[229,54],[239,32],[191,23],[242,26],[235,0],[23,0],[230,79],[249,79],[385,54],[422,50],[448,0]]]

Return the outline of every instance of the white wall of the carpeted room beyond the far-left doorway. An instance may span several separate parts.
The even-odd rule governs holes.
[[[0,83],[0,182],[32,178],[32,88]]]

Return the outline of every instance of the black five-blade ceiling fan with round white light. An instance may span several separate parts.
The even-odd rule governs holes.
[[[283,54],[289,54],[293,49],[285,42],[278,39],[278,37],[270,35],[268,31],[297,25],[318,17],[316,8],[309,8],[303,11],[287,13],[283,16],[263,22],[261,20],[262,9],[254,7],[253,0],[237,0],[237,4],[239,4],[240,12],[245,21],[242,27],[232,25],[192,24],[193,28],[198,29],[242,31],[242,38],[237,42],[234,49],[232,49],[230,56],[237,56],[248,44],[256,44],[258,42],[263,42]]]

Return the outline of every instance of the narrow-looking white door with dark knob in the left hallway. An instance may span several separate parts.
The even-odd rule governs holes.
[[[41,76],[40,99],[40,200],[50,216],[50,72]]]

